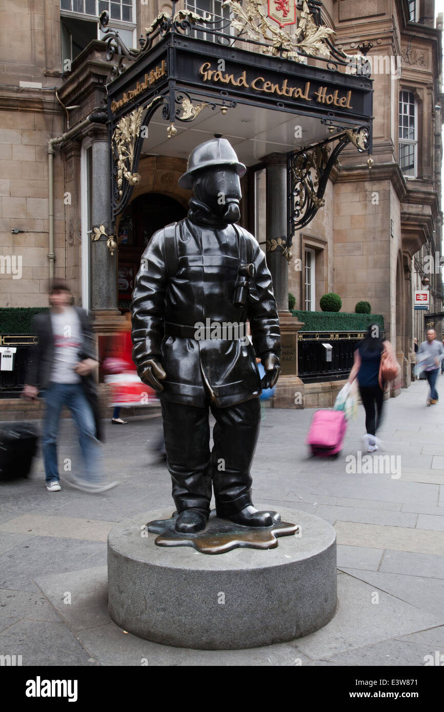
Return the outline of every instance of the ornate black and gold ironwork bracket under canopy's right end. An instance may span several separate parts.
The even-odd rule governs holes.
[[[341,127],[339,127],[341,129]],[[288,233],[286,248],[291,246],[293,234],[301,229],[324,207],[324,192],[331,169],[338,162],[339,154],[350,143],[359,152],[370,147],[370,129],[344,129],[339,135],[319,144],[293,151],[287,157],[288,186]],[[332,150],[329,143],[337,142]]]

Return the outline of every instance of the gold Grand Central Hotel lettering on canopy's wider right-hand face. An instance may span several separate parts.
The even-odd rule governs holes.
[[[279,96],[288,96],[294,99],[302,99],[304,101],[312,101],[316,97],[316,102],[326,105],[339,106],[346,109],[352,109],[351,106],[351,91],[346,95],[339,96],[339,90],[334,90],[333,93],[327,93],[327,87],[320,87],[310,96],[310,82],[306,82],[304,88],[292,87],[288,85],[288,79],[282,82],[274,83],[267,81],[264,77],[255,77],[250,83],[247,82],[247,72],[234,76],[227,72],[221,72],[218,69],[212,68],[210,62],[204,62],[199,69],[204,82],[215,82],[221,84],[230,84],[234,87],[245,87],[265,94],[277,94]]]

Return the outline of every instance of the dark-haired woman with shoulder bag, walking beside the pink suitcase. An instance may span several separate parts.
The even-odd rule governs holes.
[[[381,424],[385,385],[396,378],[398,363],[389,341],[383,339],[378,324],[371,324],[354,352],[348,384],[358,379],[359,392],[366,412],[366,444],[368,452],[378,449],[376,431]]]

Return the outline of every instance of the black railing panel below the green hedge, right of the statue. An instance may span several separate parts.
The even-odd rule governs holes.
[[[362,338],[358,334],[299,333],[298,372],[304,383],[334,381],[349,377],[353,366],[353,352]],[[302,337],[302,338],[301,338]],[[331,361],[326,360],[327,349],[323,343],[331,345]]]

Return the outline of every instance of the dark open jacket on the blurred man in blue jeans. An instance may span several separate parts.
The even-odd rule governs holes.
[[[76,314],[80,320],[83,337],[82,347],[78,352],[78,360],[82,361],[87,358],[97,360],[91,321],[89,320],[84,309],[81,309],[80,307],[73,307],[73,309],[76,310]],[[51,326],[51,311],[36,314],[33,318],[33,333],[36,335],[38,341],[31,350],[31,358],[26,371],[25,383],[30,386],[36,386],[44,389],[47,388],[51,382],[51,372],[54,360],[54,338]],[[81,385],[91,410],[93,411],[95,420],[95,436],[99,440],[103,440],[102,429],[100,427],[100,414],[95,375],[91,373],[88,376],[82,376]]]

